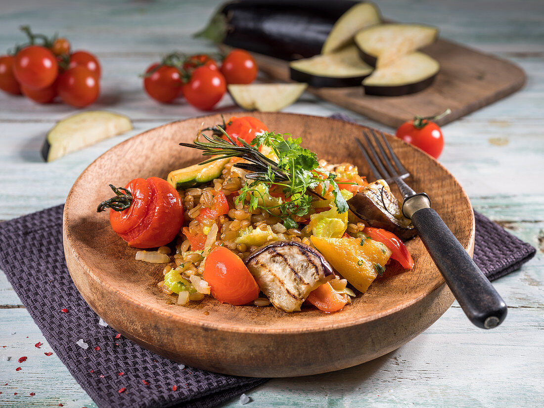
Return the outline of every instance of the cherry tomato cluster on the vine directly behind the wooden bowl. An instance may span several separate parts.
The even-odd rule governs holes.
[[[197,109],[211,110],[225,92],[227,84],[250,84],[257,77],[257,64],[251,54],[233,50],[221,64],[207,54],[172,53],[154,63],[144,74],[147,95],[162,103],[183,96]]]

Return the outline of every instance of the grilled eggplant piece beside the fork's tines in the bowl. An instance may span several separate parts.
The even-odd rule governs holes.
[[[348,200],[349,209],[368,225],[391,231],[400,239],[410,239],[416,230],[404,217],[399,201],[385,180],[376,180]]]

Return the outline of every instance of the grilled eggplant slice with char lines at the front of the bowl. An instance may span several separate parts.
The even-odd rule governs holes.
[[[265,245],[245,263],[262,292],[284,312],[299,311],[312,290],[335,276],[323,255],[293,241]]]

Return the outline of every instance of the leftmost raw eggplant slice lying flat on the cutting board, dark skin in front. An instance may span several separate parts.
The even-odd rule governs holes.
[[[357,47],[350,45],[331,54],[292,61],[289,70],[293,81],[315,88],[338,88],[360,85],[373,68],[361,60]]]

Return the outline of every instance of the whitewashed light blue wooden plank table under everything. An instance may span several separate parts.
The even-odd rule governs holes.
[[[134,121],[128,134],[45,164],[38,153],[45,133],[73,110],[0,95],[0,220],[64,202],[83,169],[120,141],[201,115],[183,102],[153,102],[141,90],[138,74],[161,53],[211,51],[190,34],[217,4],[0,0],[0,51],[22,40],[21,24],[66,35],[76,48],[96,53],[103,65],[102,94],[90,109],[113,110]],[[421,336],[386,356],[340,372],[271,380],[249,393],[248,406],[544,406],[544,3],[383,0],[379,7],[393,20],[437,25],[444,38],[495,53],[527,72],[522,91],[444,127],[440,162],[460,180],[475,209],[539,250],[521,270],[494,282],[510,306],[498,329],[475,328],[454,304]],[[219,106],[232,108],[228,97]],[[285,111],[347,112],[308,94]],[[34,348],[38,341],[45,343],[41,349]],[[0,345],[5,346],[0,348],[0,406],[96,407],[60,360],[44,355],[50,350],[45,338],[1,272]],[[16,372],[22,355],[28,361]],[[7,356],[11,361],[2,358]],[[226,406],[238,404],[235,399]]]

